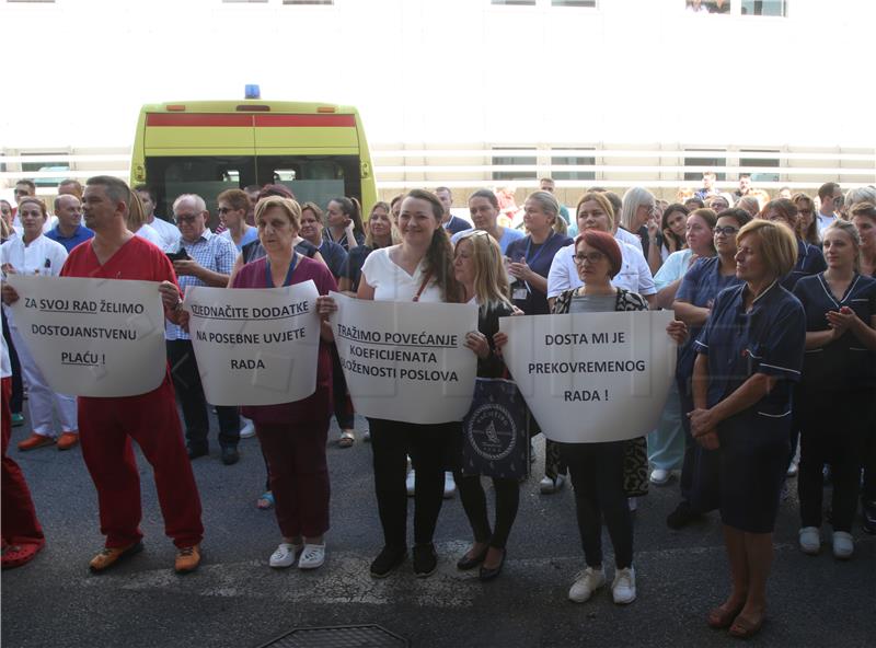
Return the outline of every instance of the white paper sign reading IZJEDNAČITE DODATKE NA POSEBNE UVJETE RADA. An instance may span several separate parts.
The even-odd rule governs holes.
[[[316,390],[319,291],[313,281],[283,288],[186,290],[188,333],[207,402],[277,405]]]

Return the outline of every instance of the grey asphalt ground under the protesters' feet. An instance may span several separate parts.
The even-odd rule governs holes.
[[[23,428],[14,431],[13,448],[24,435]],[[112,572],[92,576],[87,565],[102,537],[79,449],[13,449],[48,544],[33,564],[3,572],[2,645],[255,647],[295,627],[369,623],[416,647],[735,645],[704,621],[726,591],[721,526],[712,516],[684,531],[668,530],[664,520],[676,504],[676,482],[653,489],[636,513],[638,600],[618,608],[603,590],[576,605],[566,591],[583,557],[568,489],[542,496],[535,478],[523,486],[506,569],[493,582],[454,567],[470,537],[458,499],[446,501],[439,520],[439,570],[415,579],[408,562],[377,581],[368,576],[381,545],[370,448],[332,443],[327,562],[315,572],[275,571],[267,566],[279,541],[274,514],[254,506],[264,479],[257,441],[244,440],[241,448],[234,466],[223,466],[216,450],[195,461],[207,535],[205,562],[186,577],[171,569],[173,547],[162,532],[148,464],[140,462],[147,548]],[[541,453],[542,443],[537,448]],[[537,472],[540,465],[541,456]],[[794,490],[795,482],[789,485]],[[856,528],[854,559],[838,563],[830,552],[804,556],[796,534],[792,496],[775,536],[770,620],[753,643],[876,645],[876,537]]]

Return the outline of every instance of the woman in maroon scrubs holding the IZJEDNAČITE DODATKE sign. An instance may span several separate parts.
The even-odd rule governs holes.
[[[321,262],[293,248],[301,208],[272,196],[255,207],[258,240],[266,256],[243,266],[231,288],[275,288],[313,281],[320,294],[336,290],[332,273]],[[320,298],[321,299],[321,298]],[[325,440],[332,413],[331,328],[323,323],[313,395],[281,405],[242,407],[255,423],[255,433],[270,468],[283,542],[270,556],[272,567],[315,569],[325,560],[328,530],[328,466]]]

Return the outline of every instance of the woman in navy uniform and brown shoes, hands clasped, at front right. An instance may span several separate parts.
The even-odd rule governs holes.
[[[752,221],[737,234],[737,247],[736,275],[744,284],[718,294],[694,343],[690,419],[694,439],[718,450],[718,501],[733,582],[726,601],[708,614],[708,625],[750,637],[766,613],[806,314],[780,284],[797,261],[788,228]]]

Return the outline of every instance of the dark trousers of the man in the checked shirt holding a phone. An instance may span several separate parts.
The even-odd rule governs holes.
[[[166,344],[173,386],[183,408],[186,443],[193,449],[206,449],[210,419],[192,340],[169,339]],[[240,441],[240,412],[237,407],[217,405],[216,414],[219,418],[219,444],[222,448],[237,447]]]

